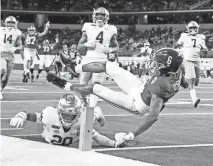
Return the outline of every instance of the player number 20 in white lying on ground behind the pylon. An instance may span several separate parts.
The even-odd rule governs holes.
[[[43,125],[41,136],[46,142],[54,145],[70,146],[79,141],[81,112],[84,109],[83,101],[76,94],[66,94],[60,98],[58,106],[46,107],[42,112],[22,111],[11,119],[10,125],[22,127],[25,121],[37,122]],[[94,121],[101,127],[105,118],[97,107],[94,110]],[[93,140],[108,147],[119,147],[122,144],[111,140],[93,129]]]

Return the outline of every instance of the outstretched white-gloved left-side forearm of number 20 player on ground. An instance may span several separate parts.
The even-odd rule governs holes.
[[[30,113],[22,111],[16,114],[16,116],[10,120],[10,125],[16,128],[22,127],[26,120],[37,122],[37,119],[39,119],[37,116],[41,116],[41,113]]]

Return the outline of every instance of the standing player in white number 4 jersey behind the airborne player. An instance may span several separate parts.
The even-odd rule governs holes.
[[[99,7],[93,11],[93,23],[85,23],[82,28],[82,37],[78,43],[78,52],[87,50],[81,64],[91,62],[106,62],[107,56],[111,53],[117,53],[119,45],[117,42],[117,28],[108,24],[109,12]],[[61,60],[67,64],[69,60],[61,57]],[[72,69],[71,69],[72,71]],[[73,75],[78,75],[72,71]],[[105,79],[105,73],[82,72],[80,74],[80,84],[86,85],[92,79],[93,83],[102,83]],[[90,106],[95,107],[98,97],[90,95]]]

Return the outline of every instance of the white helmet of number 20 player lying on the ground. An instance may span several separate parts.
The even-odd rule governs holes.
[[[83,101],[76,94],[62,96],[58,103],[58,113],[61,123],[69,128],[78,120],[83,109]]]

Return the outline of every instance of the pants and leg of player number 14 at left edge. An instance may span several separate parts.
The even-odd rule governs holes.
[[[3,99],[2,91],[6,87],[9,76],[13,70],[14,66],[14,57],[12,54],[7,52],[1,53],[1,93],[0,93],[0,99]]]

